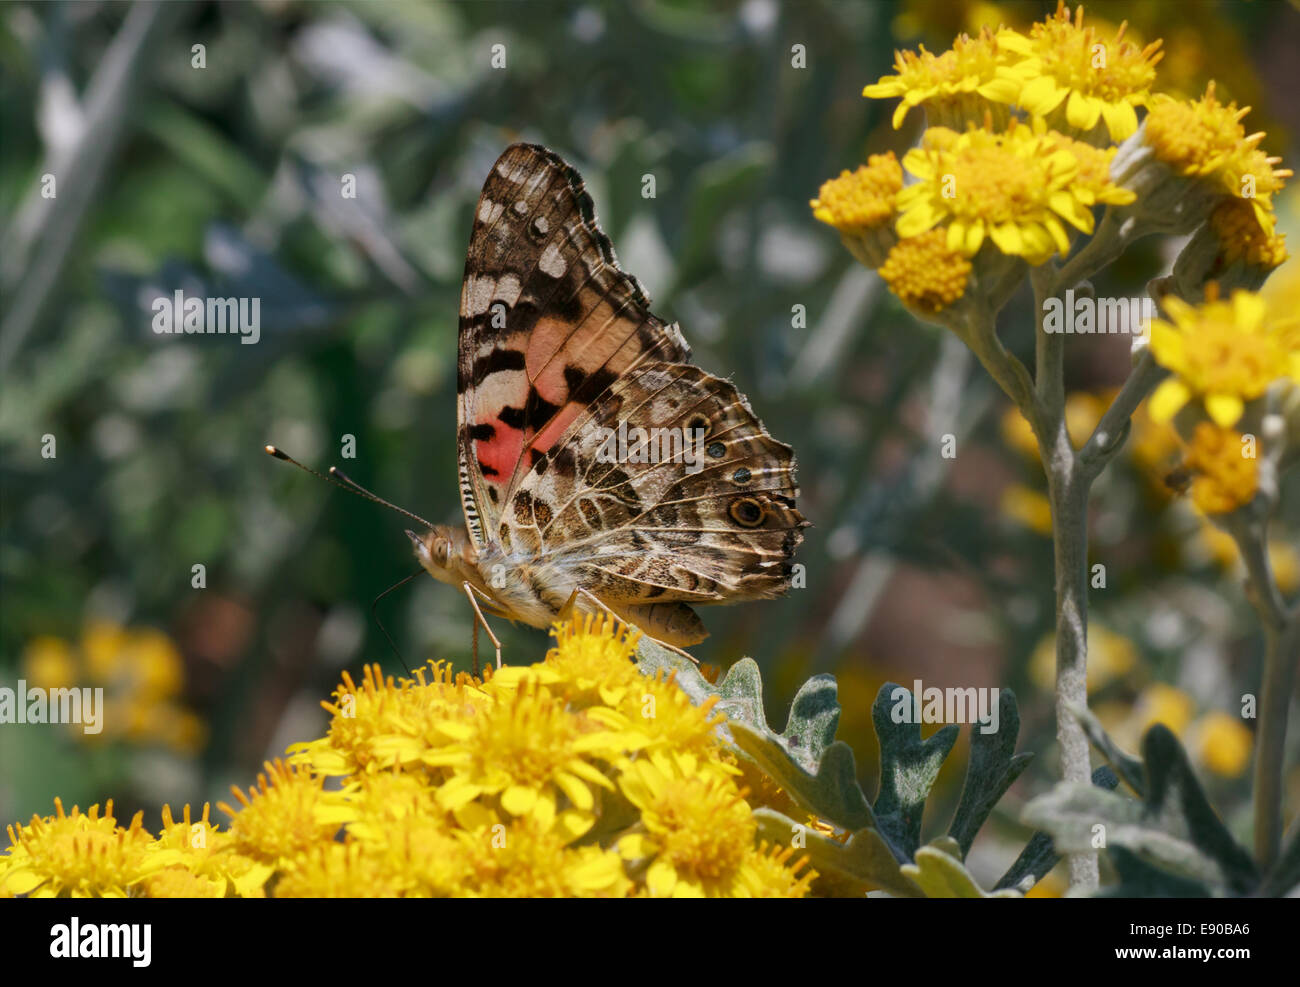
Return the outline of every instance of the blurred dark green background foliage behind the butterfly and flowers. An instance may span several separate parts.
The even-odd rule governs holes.
[[[919,112],[893,131],[893,103],[861,96],[896,47],[941,51],[959,30],[1023,27],[1052,9],[4,5],[0,684],[104,684],[113,705],[98,739],[0,727],[0,822],[46,814],[55,796],[112,796],[120,818],[146,809],[156,824],[161,802],[224,798],[264,758],[318,736],[318,702],[343,668],[402,671],[369,609],[416,568],[404,519],[261,446],[337,463],[398,505],[460,523],[464,251],[488,168],[525,139],[580,168],[655,311],[680,320],[696,362],[733,378],[798,454],[800,506],[815,524],[798,557],[807,586],[706,609],[712,637],[696,654],[722,667],[754,655],[776,723],[803,679],[835,672],[841,736],[868,791],[880,683],[1014,688],[1020,746],[1040,758],[998,822],[1023,835],[1015,806],[1054,770],[1041,472],[965,349],[857,267],[809,199],[915,138]],[[1216,78],[1294,166],[1292,4],[1088,13],[1165,38],[1161,87],[1191,96]],[[40,194],[47,173],[55,198]],[[339,195],[344,174],[355,199]],[[1278,212],[1295,243],[1296,196]],[[1140,291],[1174,248],[1140,243],[1098,293]],[[1295,269],[1274,276],[1291,304]],[[260,296],[260,342],[155,336],[150,303],[177,289]],[[1027,298],[1004,325],[1009,346],[1032,346]],[[1122,381],[1126,341],[1071,339],[1069,362],[1082,428],[1095,395]],[[940,455],[945,433],[956,459]],[[46,436],[55,458],[42,455]],[[355,459],[341,458],[344,436]],[[1240,828],[1249,732],[1236,714],[1256,688],[1260,638],[1232,550],[1160,482],[1176,449],[1149,428],[1132,446],[1095,498],[1093,557],[1110,573],[1093,593],[1095,706],[1122,737],[1152,718],[1175,726]],[[1277,546],[1292,590],[1296,508]],[[471,611],[450,588],[421,576],[377,610],[407,663],[468,667]],[[497,623],[507,661],[541,658],[543,632]],[[956,801],[965,745],[933,802]],[[985,849],[988,871],[1014,852]]]

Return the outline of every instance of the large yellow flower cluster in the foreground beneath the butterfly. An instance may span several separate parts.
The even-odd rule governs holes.
[[[757,840],[715,700],[642,675],[612,619],[555,637],[484,679],[344,675],[329,733],[235,789],[228,831],[61,805],[10,827],[0,895],[805,896],[806,861]]]

